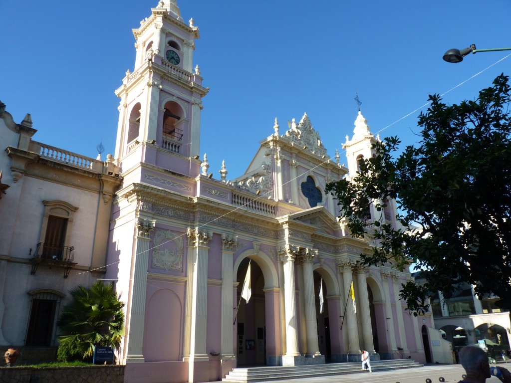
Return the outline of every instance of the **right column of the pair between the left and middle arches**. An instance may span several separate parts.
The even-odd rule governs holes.
[[[304,263],[304,296],[305,318],[307,326],[307,355],[321,355],[318,345],[318,331],[316,324],[316,301],[314,299],[314,277],[312,262],[317,250],[304,249],[302,259]]]

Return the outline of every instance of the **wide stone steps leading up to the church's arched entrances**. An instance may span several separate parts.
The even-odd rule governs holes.
[[[399,370],[403,368],[424,367],[410,359],[394,359],[389,361],[371,361],[371,370],[373,372],[384,370]],[[329,363],[325,365],[309,366],[267,366],[267,367],[248,367],[235,368],[230,371],[225,378],[224,383],[248,383],[252,381],[264,380],[284,380],[311,378],[327,375],[343,374],[365,374],[367,371],[361,370],[361,363]]]

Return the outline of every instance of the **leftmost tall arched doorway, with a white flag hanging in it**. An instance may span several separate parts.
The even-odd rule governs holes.
[[[250,264],[250,298],[242,298],[243,285]],[[245,258],[238,268],[236,318],[236,355],[239,366],[264,366],[266,363],[266,309],[264,275],[256,261]]]

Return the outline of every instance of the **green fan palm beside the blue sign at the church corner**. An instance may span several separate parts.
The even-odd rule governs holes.
[[[63,333],[59,340],[78,341],[83,358],[92,356],[94,346],[119,350],[124,336],[124,302],[119,301],[113,284],[98,280],[88,288],[78,285],[69,294],[72,301],[57,322]]]

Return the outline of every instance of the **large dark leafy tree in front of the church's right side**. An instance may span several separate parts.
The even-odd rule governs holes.
[[[387,137],[360,163],[351,180],[327,185],[338,199],[353,236],[373,235],[378,246],[362,255],[366,265],[392,260],[399,270],[415,262],[424,285],[402,285],[401,298],[414,315],[428,309],[431,292],[452,296],[454,284],[475,285],[511,304],[511,122],[509,79],[498,76],[475,101],[447,105],[430,95],[419,116],[422,137],[398,153]],[[367,220],[369,202],[398,205],[399,227]]]

